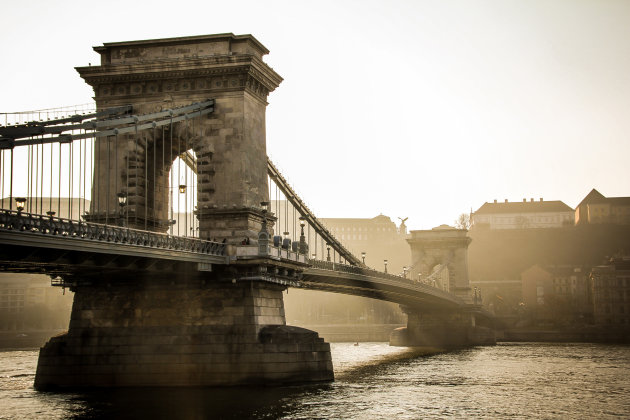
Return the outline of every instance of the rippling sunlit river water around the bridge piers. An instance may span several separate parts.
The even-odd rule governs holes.
[[[33,389],[37,350],[0,352],[0,419],[630,418],[628,346],[331,350],[336,380],[325,385],[69,394]]]

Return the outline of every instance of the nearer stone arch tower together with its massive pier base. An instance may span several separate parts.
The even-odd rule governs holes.
[[[98,109],[130,104],[134,114],[147,114],[212,99],[214,110],[142,135],[97,138],[85,219],[114,219],[123,194],[126,227],[165,232],[169,172],[188,152],[196,159],[198,236],[227,252],[223,263],[181,271],[147,262],[124,272],[125,258],[111,255],[100,259],[102,273],[68,276],[75,292],[69,331],[41,349],[35,387],[332,380],[329,344],[285,322],[282,293],[308,267],[305,257],[257,246],[263,223],[271,229],[274,220],[261,207],[269,197],[266,98],[282,81],[262,61],[268,50],[251,35],[233,34],[95,50],[101,65],[77,70]]]

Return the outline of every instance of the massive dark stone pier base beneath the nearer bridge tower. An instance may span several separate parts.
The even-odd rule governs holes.
[[[35,388],[333,380],[329,344],[285,325],[284,289],[240,280],[79,286],[68,333],[40,351]]]

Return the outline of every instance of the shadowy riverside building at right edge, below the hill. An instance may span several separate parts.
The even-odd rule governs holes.
[[[596,324],[630,327],[630,257],[613,258],[590,274]]]

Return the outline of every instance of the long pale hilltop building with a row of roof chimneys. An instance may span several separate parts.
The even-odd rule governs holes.
[[[560,228],[574,224],[575,212],[562,201],[523,199],[484,203],[472,214],[472,226],[490,229]]]

